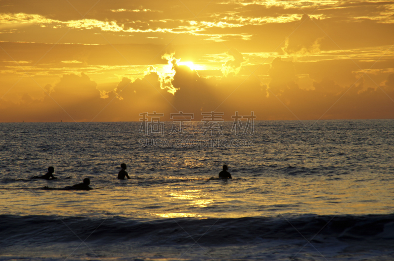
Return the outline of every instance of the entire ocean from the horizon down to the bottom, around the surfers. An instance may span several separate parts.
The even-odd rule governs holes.
[[[394,120],[221,124],[1,123],[0,260],[394,260]]]

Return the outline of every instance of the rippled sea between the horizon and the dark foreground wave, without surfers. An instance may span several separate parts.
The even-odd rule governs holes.
[[[26,217],[23,222],[27,222],[37,215],[70,220],[83,217],[99,220],[98,224],[106,219],[124,224],[125,220],[165,223],[192,218],[207,220],[207,224],[196,223],[193,228],[210,228],[218,219],[246,222],[239,226],[250,228],[249,223],[252,227],[260,224],[255,218],[296,222],[299,217],[314,216],[328,222],[334,217],[351,215],[354,220],[380,214],[389,220],[384,228],[392,226],[394,120],[255,121],[250,136],[231,134],[231,124],[223,124],[223,136],[210,137],[202,135],[199,122],[193,122],[195,136],[182,137],[170,136],[171,123],[167,122],[164,136],[153,135],[146,141],[147,137],[138,133],[139,122],[2,123],[3,222],[21,217]],[[220,139],[228,143],[214,147],[155,147],[152,139]],[[229,142],[246,139],[254,146]],[[117,179],[121,163],[128,165],[131,179]],[[229,166],[233,179],[210,179],[217,177],[223,164]],[[59,179],[30,178],[45,174],[48,166],[55,167]],[[84,177],[90,177],[91,187],[97,189],[41,190],[44,186],[63,188]],[[239,221],[244,217],[254,219]],[[151,235],[146,236],[144,242],[150,242]],[[253,249],[248,251],[255,253]],[[179,258],[172,252],[167,254],[166,258]],[[284,255],[286,260],[291,254]]]

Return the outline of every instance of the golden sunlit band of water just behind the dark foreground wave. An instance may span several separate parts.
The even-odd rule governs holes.
[[[95,213],[105,216],[106,213],[112,213],[133,218],[239,218],[275,216],[279,213],[385,214],[393,205],[388,200],[392,190],[390,183],[384,186],[371,184],[370,191],[359,193],[362,186],[349,187],[346,180],[329,181],[324,177],[315,177],[312,183],[305,183],[300,177],[289,180],[286,177],[268,176],[261,181],[263,183],[256,184],[247,179],[207,182],[206,178],[190,180],[187,177],[176,179],[171,176],[165,177],[165,180],[178,180],[179,183],[171,185],[164,182],[163,185],[153,187],[131,185],[116,190],[103,188],[89,192],[24,190],[17,194],[0,194],[0,207],[3,214],[11,211],[9,213],[20,212],[25,215],[85,216]],[[189,186],[201,181],[204,185]],[[251,193],[240,198],[240,193],[244,191]],[[233,193],[238,196],[231,196]],[[386,200],[378,201],[374,195]],[[42,207],[42,203],[45,203],[45,207]]]

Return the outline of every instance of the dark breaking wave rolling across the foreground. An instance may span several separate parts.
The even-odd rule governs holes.
[[[318,234],[318,236],[316,236]],[[140,241],[145,245],[192,243],[247,244],[262,239],[334,239],[345,242],[394,241],[394,214],[302,215],[225,219],[125,217],[86,218],[45,215],[0,215],[0,246],[52,244],[89,238],[96,243]],[[319,239],[320,238],[320,239]],[[142,241],[141,241],[142,240]]]

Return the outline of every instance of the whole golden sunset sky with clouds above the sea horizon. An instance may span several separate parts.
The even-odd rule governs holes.
[[[394,118],[394,1],[0,0],[0,122]]]

